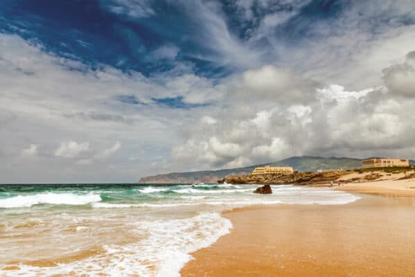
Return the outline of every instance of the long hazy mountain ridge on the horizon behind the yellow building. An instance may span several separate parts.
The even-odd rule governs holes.
[[[292,166],[294,170],[316,171],[359,168],[361,159],[353,158],[323,158],[323,157],[290,157],[281,161],[264,163],[246,168],[231,168],[224,170],[205,170],[195,172],[175,172],[168,174],[143,177],[139,184],[191,184],[191,183],[216,183],[218,179],[231,175],[251,174],[258,166]],[[415,162],[414,162],[415,164]]]

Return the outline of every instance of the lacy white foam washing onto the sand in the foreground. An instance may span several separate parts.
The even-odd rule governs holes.
[[[229,233],[232,224],[219,213],[202,213],[195,217],[175,220],[132,222],[133,232],[146,233],[139,242],[103,245],[106,255],[91,256],[55,267],[19,265],[13,276],[159,276],[179,277],[179,271],[190,253],[209,247],[222,235]],[[157,230],[157,231],[156,231]],[[0,267],[1,268],[1,267]]]

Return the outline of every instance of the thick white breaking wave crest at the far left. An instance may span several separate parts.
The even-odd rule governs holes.
[[[37,195],[18,195],[0,199],[0,208],[26,208],[38,204],[86,205],[99,202],[99,195],[76,195],[73,193],[39,193]]]

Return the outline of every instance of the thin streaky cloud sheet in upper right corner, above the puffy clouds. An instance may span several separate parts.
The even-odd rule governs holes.
[[[252,31],[249,45],[266,49],[263,63],[288,64],[318,82],[376,87],[380,69],[414,50],[413,6],[412,0],[353,1],[324,20],[301,17],[296,8],[292,15],[272,12]]]

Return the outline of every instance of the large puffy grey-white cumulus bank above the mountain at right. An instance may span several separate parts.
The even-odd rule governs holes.
[[[276,66],[241,76],[243,82],[235,85],[233,79],[228,87],[233,91],[228,91],[227,101],[233,105],[215,115],[214,125],[188,132],[186,141],[173,149],[176,163],[227,168],[301,154],[362,158],[415,154],[409,139],[415,136],[415,100],[396,99],[399,95],[388,93],[382,82],[359,91],[339,84],[317,87],[300,73]],[[292,91],[298,91],[297,96]],[[308,100],[301,103],[301,95]]]

